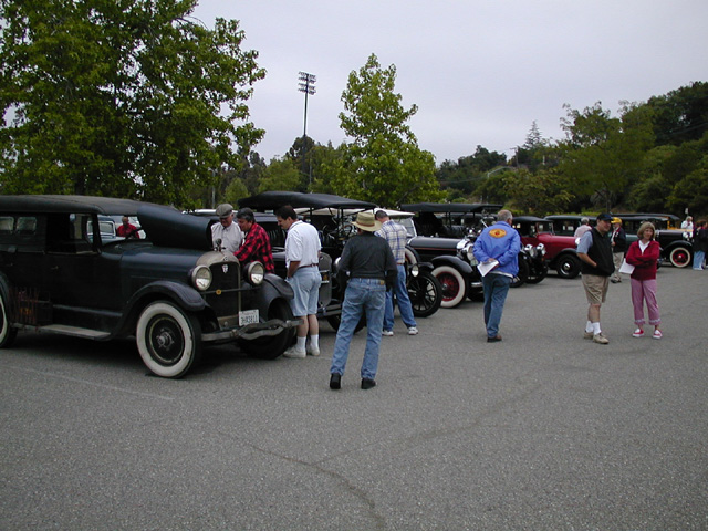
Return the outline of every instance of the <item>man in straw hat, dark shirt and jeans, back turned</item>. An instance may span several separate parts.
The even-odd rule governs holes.
[[[358,233],[346,242],[340,260],[340,271],[348,273],[348,283],[342,304],[342,322],[334,342],[334,355],[330,367],[330,388],[342,386],[342,375],[350,354],[350,344],[362,314],[366,315],[366,350],[362,363],[362,389],[376,385],[378,348],[384,324],[386,287],[396,279],[397,267],[388,242],[374,235],[381,221],[374,212],[356,215]]]

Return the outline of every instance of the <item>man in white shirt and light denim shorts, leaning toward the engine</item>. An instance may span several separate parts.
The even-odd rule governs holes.
[[[310,333],[310,353],[320,355],[320,323],[317,322],[317,300],[320,298],[320,235],[312,225],[298,219],[298,214],[290,207],[281,207],[275,211],[278,225],[288,231],[285,239],[285,266],[288,283],[292,287],[294,298],[290,308],[295,317],[302,321],[298,325],[298,343],[288,348],[285,357],[305,357],[305,344]]]

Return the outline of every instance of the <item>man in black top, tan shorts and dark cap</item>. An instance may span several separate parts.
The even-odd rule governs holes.
[[[597,216],[595,227],[584,233],[580,243],[577,243],[577,258],[582,261],[583,288],[590,304],[583,336],[601,345],[610,343],[600,329],[600,306],[605,302],[610,275],[615,271],[612,258],[612,242],[607,237],[612,228],[611,221],[611,215],[601,214]]]

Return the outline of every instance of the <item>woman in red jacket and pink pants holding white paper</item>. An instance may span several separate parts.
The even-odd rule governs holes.
[[[662,317],[659,305],[656,302],[656,261],[662,252],[659,244],[654,240],[654,225],[646,221],[637,231],[639,239],[634,241],[627,250],[626,261],[634,266],[632,272],[632,305],[634,306],[634,322],[637,329],[632,334],[634,337],[644,337],[644,301],[649,314],[649,324],[654,325],[655,340],[662,339]]]

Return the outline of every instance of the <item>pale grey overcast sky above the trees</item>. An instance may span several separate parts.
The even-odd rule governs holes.
[[[645,102],[708,81],[707,0],[199,0],[194,15],[214,28],[237,19],[242,48],[268,71],[249,103],[270,160],[302,136],[300,71],[316,75],[308,136],[344,139],[339,113],[347,76],[375,53],[396,66],[409,125],[436,164],[477,145],[513,154],[535,121],[561,139],[563,104]]]

